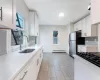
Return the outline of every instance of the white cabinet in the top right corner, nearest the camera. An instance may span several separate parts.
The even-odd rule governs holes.
[[[100,0],[91,0],[92,24],[100,23]]]

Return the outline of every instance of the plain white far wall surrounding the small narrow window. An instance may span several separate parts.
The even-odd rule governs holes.
[[[59,34],[59,44],[53,45],[53,30],[57,30]],[[66,26],[40,26],[40,44],[44,47],[44,52],[52,52],[53,50],[66,50]]]

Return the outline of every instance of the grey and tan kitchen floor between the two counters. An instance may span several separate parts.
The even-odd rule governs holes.
[[[74,60],[66,53],[44,53],[37,80],[74,80]]]

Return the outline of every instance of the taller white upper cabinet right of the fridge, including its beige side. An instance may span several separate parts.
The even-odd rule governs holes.
[[[83,20],[83,26],[82,26],[82,37],[91,37],[91,36],[97,36],[97,26],[91,25],[91,16],[85,17]]]

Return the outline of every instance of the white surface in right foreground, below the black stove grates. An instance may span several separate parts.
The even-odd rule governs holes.
[[[74,80],[100,80],[100,67],[74,56]]]

